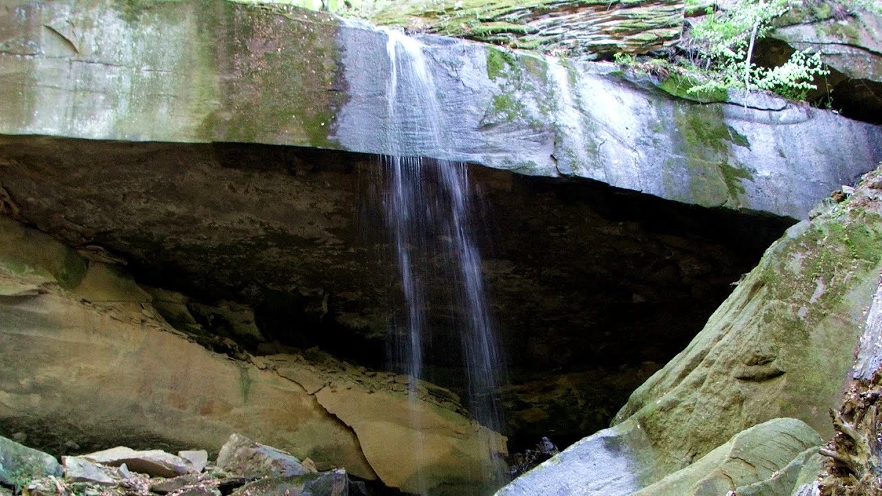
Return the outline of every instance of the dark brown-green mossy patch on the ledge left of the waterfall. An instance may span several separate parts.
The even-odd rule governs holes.
[[[328,139],[342,104],[337,91],[339,24],[330,16],[282,5],[228,4],[224,88],[232,119],[220,139],[337,148]],[[258,116],[256,118],[255,116]]]

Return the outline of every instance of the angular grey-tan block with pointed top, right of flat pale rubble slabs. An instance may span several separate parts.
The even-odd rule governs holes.
[[[310,472],[295,456],[240,434],[229,437],[215,463],[222,470],[243,477],[289,477]]]

